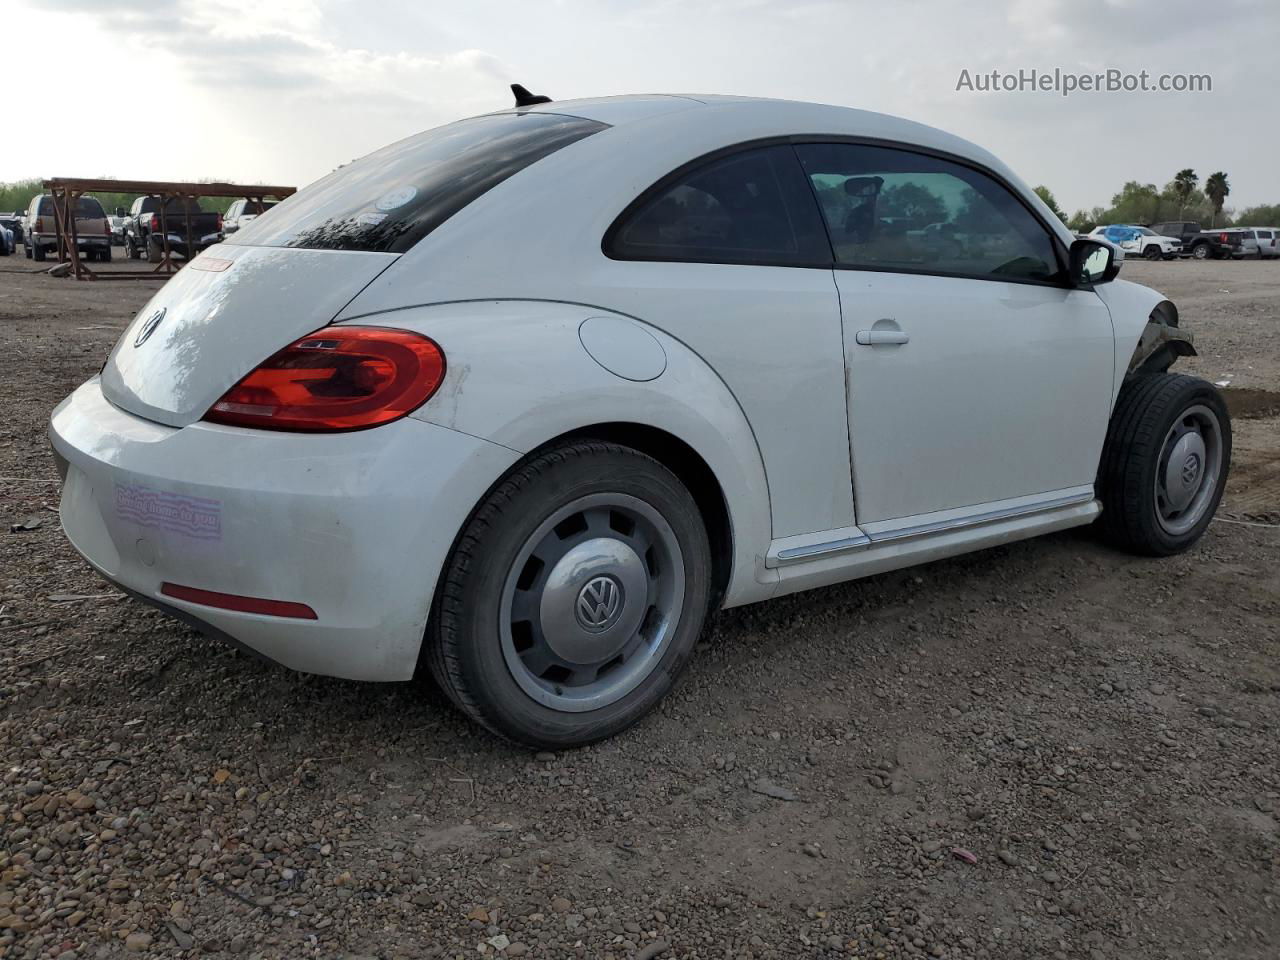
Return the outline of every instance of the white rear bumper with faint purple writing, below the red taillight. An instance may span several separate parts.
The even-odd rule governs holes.
[[[106,579],[293,669],[407,680],[453,539],[517,454],[419,420],[343,434],[175,429],[92,379],[54,411],[60,516]],[[173,586],[301,604],[227,609]]]

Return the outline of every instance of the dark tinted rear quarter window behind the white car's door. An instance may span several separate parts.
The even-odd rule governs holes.
[[[818,209],[788,146],[710,160],[659,184],[604,238],[616,260],[831,264]]]

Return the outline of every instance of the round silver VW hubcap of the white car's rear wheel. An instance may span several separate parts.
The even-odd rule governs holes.
[[[538,526],[507,573],[503,657],[544,707],[599,709],[658,666],[684,598],[684,556],[662,515],[626,494],[582,497]]]

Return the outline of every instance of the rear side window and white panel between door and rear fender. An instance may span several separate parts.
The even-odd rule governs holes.
[[[791,146],[731,147],[671,172],[603,250],[582,296],[716,370],[759,443],[773,536],[852,525],[840,298]]]

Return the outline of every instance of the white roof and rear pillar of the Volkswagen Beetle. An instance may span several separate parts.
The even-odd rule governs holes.
[[[406,303],[490,296],[591,302],[602,238],[639,196],[685,164],[786,137],[856,137],[956,156],[1004,178],[1064,247],[1075,239],[989,152],[897,116],[790,100],[663,93],[497,111],[526,113],[580,116],[608,128],[553,151],[475,198],[404,251],[348,306],[344,319]],[[495,264],[503,269],[495,271]]]

